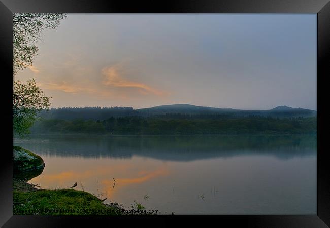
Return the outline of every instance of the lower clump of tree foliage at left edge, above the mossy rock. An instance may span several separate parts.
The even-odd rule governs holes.
[[[48,110],[51,97],[45,97],[34,79],[26,84],[14,82],[13,93],[13,129],[14,134],[24,137],[37,119],[37,112]]]

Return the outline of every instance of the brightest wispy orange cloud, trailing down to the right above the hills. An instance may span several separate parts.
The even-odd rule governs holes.
[[[102,69],[102,74],[105,76],[104,81],[102,82],[105,86],[113,86],[113,87],[127,87],[127,88],[135,88],[139,93],[143,95],[154,94],[157,96],[166,95],[163,91],[156,90],[146,84],[129,81],[124,79],[120,75],[120,67],[118,65],[111,67],[104,67]]]

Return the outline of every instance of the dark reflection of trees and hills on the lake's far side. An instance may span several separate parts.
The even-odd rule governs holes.
[[[288,159],[315,155],[317,146],[316,135],[48,135],[14,143],[41,155],[90,158],[137,155],[174,161],[251,154]]]

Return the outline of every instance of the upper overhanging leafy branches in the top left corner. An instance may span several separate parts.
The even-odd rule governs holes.
[[[62,13],[16,13],[13,14],[13,74],[32,65],[38,54],[37,41],[45,28],[56,29]]]

